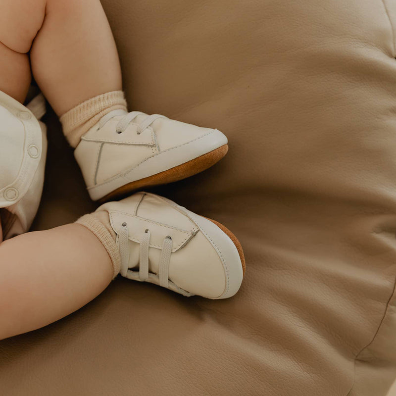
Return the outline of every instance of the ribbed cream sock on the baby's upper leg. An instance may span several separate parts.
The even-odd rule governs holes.
[[[112,110],[127,111],[127,102],[122,91],[107,92],[73,107],[60,116],[63,133],[70,146],[76,148],[83,136],[103,115]]]

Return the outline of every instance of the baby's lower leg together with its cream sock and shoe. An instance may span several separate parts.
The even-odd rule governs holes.
[[[238,292],[244,272],[242,247],[225,226],[137,193],[75,224],[0,244],[0,339],[68,315],[119,273],[184,296],[219,299]]]

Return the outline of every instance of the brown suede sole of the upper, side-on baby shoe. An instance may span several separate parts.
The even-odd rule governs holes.
[[[99,199],[100,203],[112,200],[114,198],[120,198],[122,196],[129,195],[130,193],[144,189],[145,187],[158,186],[161,184],[168,184],[177,182],[187,177],[196,175],[214,165],[220,161],[228,151],[228,145],[216,148],[213,151],[209,151],[191,161],[185,162],[184,164],[175,166],[163,172],[156,173],[155,175],[145,177],[140,180],[125,184],[111,193],[105,195]]]

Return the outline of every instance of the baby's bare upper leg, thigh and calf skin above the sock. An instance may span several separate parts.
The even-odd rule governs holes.
[[[0,90],[19,101],[30,82],[29,51],[34,77],[58,115],[121,89],[99,0],[0,0],[0,43]]]

